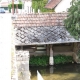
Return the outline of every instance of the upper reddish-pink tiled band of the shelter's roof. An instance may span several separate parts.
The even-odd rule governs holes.
[[[67,13],[18,14],[13,20],[14,27],[63,26]]]

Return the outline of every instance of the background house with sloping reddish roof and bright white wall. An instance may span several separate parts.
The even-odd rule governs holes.
[[[67,9],[71,6],[72,0],[49,0],[45,8],[54,9],[55,12],[67,12]]]

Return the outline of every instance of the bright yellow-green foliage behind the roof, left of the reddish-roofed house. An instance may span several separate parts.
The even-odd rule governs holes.
[[[45,8],[47,1],[48,0],[32,0],[32,8],[35,12],[38,12],[38,9],[40,9],[41,12],[53,12],[54,10]]]

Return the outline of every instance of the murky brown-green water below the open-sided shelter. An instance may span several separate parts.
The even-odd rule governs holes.
[[[30,67],[31,80],[37,80],[37,70],[44,80],[80,80],[80,64]]]

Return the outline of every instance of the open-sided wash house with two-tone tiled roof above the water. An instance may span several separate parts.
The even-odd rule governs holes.
[[[13,20],[16,52],[29,50],[35,56],[64,54],[76,61],[80,41],[66,30],[66,17],[67,13],[17,14]]]

